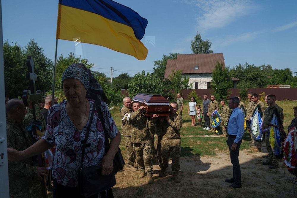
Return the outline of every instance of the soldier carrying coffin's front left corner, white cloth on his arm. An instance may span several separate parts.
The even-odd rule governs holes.
[[[151,136],[148,128],[148,117],[141,111],[145,106],[140,106],[138,101],[132,103],[134,113],[131,113],[129,123],[133,126],[131,142],[135,152],[135,161],[140,171],[139,178],[149,177],[148,183],[153,182],[153,166],[151,161]]]

